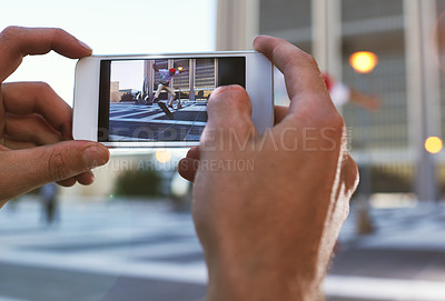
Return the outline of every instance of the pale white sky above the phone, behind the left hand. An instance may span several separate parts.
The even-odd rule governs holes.
[[[216,0],[21,0],[1,7],[8,26],[59,27],[95,54],[214,51]],[[46,81],[72,104],[76,60],[27,57],[7,81]]]

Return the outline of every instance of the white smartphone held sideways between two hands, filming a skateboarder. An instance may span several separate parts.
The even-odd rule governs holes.
[[[258,52],[93,56],[76,67],[73,138],[110,148],[198,146],[207,102],[239,84],[259,133],[274,124],[274,68]]]

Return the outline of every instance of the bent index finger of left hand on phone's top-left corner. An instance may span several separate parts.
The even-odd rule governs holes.
[[[58,28],[8,27],[0,33],[0,82],[7,79],[28,54],[56,51],[70,59],[91,56],[83,42]]]

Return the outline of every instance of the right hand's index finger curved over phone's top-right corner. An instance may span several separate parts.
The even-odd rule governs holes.
[[[295,102],[330,102],[326,84],[315,59],[284,39],[259,36],[254,48],[265,54],[285,76],[290,111]]]

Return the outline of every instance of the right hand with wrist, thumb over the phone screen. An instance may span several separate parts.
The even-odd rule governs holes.
[[[314,300],[358,183],[345,124],[313,57],[285,40],[255,49],[291,103],[258,136],[240,87],[218,88],[199,148],[179,162],[209,270],[208,300]]]

